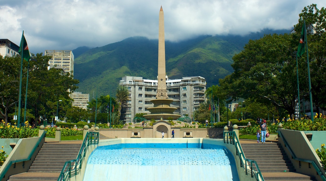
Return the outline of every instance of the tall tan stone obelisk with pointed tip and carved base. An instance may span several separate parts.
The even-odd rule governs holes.
[[[164,38],[164,12],[161,6],[158,18],[158,67],[157,67],[156,99],[168,99],[165,74],[165,38]]]

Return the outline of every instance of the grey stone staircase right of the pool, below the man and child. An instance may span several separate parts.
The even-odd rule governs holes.
[[[252,141],[252,143],[241,143],[241,147],[246,158],[257,162],[264,180],[314,180],[308,175],[295,173],[296,170],[289,157],[277,142]]]

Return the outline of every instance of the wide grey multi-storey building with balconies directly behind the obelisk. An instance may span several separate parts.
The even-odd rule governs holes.
[[[125,76],[120,85],[129,91],[127,106],[121,110],[121,120],[132,121],[137,113],[147,113],[147,108],[153,107],[151,102],[156,97],[157,80],[143,79],[142,77]],[[166,76],[166,87],[169,99],[173,102],[170,107],[176,107],[173,114],[181,117],[193,118],[194,110],[198,110],[200,103],[206,99],[206,80],[203,77],[183,77],[170,80]]]

